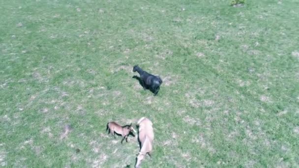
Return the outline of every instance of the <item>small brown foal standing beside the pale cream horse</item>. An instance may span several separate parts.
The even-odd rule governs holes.
[[[126,142],[128,142],[128,136],[130,135],[130,133],[135,137],[132,131],[136,133],[136,131],[132,127],[132,123],[130,125],[120,126],[120,124],[114,121],[107,123],[106,131],[107,130],[108,130],[108,134],[111,133],[111,135],[113,135],[114,138],[115,138],[115,134],[121,135],[121,137],[123,138],[121,140],[121,143],[124,139]]]

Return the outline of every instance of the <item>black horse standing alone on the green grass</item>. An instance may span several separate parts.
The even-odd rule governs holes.
[[[148,72],[142,70],[138,65],[133,67],[133,72],[138,72],[140,75],[140,81],[143,89],[149,89],[156,96],[159,92],[160,85],[162,84],[162,79],[159,76],[149,74]]]

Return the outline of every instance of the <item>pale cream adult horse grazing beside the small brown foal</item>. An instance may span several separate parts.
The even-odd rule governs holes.
[[[141,161],[145,158],[146,154],[151,157],[152,145],[153,145],[153,128],[152,122],[146,118],[142,117],[137,122],[138,128],[138,140],[140,143],[140,151],[136,158],[135,168],[139,168]]]

